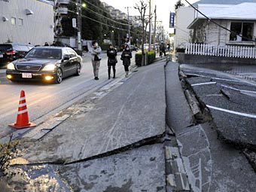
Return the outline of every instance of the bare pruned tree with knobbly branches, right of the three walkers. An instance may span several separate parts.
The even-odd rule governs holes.
[[[142,21],[142,66],[145,66],[145,50],[144,50],[144,44],[145,44],[145,34],[146,34],[146,29],[145,29],[145,14],[147,11],[147,7],[148,5],[141,0],[140,4],[136,4],[136,6],[134,7],[136,10],[139,11],[139,17],[140,20]]]

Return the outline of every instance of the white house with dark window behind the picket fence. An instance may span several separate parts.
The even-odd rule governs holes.
[[[256,3],[198,5],[198,8],[220,26],[209,22],[203,15],[197,14],[197,17],[188,26],[188,29],[194,31],[195,43],[220,46],[255,45]]]

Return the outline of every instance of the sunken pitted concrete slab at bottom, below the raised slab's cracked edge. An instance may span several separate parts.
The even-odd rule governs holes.
[[[59,169],[75,191],[166,191],[163,145],[147,145],[121,154]]]

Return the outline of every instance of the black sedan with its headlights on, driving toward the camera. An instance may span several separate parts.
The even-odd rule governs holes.
[[[35,47],[23,58],[8,64],[6,78],[60,84],[62,78],[80,75],[81,62],[81,56],[69,47]]]

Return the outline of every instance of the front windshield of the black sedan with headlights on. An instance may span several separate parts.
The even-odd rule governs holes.
[[[33,48],[26,54],[26,59],[61,59],[61,49]]]

